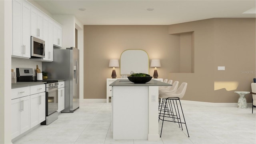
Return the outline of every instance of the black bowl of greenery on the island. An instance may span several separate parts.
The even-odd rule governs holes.
[[[134,84],[145,84],[146,82],[149,82],[152,79],[152,76],[150,76],[149,74],[137,73],[132,74],[127,78]]]

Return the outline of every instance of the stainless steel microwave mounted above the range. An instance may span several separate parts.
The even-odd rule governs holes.
[[[31,36],[31,58],[44,58],[45,42]]]

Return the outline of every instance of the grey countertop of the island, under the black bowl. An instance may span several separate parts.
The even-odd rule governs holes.
[[[118,79],[109,86],[172,86],[172,84],[160,82],[158,80],[150,80],[146,84],[134,84],[128,79]]]

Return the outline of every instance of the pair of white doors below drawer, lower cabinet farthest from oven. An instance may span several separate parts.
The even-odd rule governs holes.
[[[30,96],[12,100],[12,139],[30,129]]]

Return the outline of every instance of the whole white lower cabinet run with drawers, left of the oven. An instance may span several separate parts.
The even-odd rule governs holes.
[[[45,84],[13,88],[11,99],[11,137],[14,139],[45,120]]]

